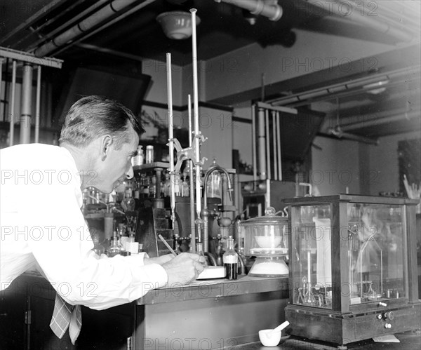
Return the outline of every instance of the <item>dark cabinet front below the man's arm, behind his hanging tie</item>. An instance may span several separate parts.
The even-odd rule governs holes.
[[[81,333],[73,345],[50,328],[55,290],[41,277],[20,276],[0,291],[0,349],[131,349],[135,304],[96,311],[82,307]]]

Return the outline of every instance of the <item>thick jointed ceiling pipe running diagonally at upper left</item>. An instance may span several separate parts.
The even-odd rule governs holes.
[[[111,3],[109,3],[107,6],[101,8],[99,11],[93,13],[89,17],[85,18],[78,24],[74,25],[73,27],[67,29],[62,34],[59,34],[56,36],[52,41],[48,41],[48,43],[45,43],[43,46],[40,46],[39,48],[36,48],[34,51],[34,55],[36,57],[44,57],[54,51],[57,48],[60,48],[60,46],[65,45],[69,41],[72,41],[76,38],[76,36],[79,36],[80,34],[83,34],[84,32],[88,32],[88,30],[92,29],[96,25],[99,25],[101,22],[104,22],[105,20],[112,17],[112,15],[115,15],[117,12],[123,10],[124,8],[128,8],[138,0],[114,0]],[[151,0],[146,0],[146,2],[152,2]]]

